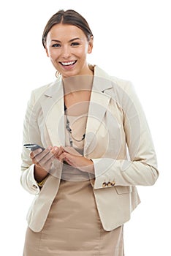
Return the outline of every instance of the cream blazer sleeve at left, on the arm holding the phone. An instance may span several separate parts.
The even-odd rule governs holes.
[[[39,135],[39,128],[37,125],[37,119],[34,113],[34,91],[31,93],[31,98],[28,101],[26,116],[23,121],[23,144],[25,143],[38,143],[42,144]],[[34,132],[33,132],[34,131]],[[34,179],[34,164],[32,164],[29,157],[30,151],[28,148],[23,147],[21,154],[22,165],[21,165],[21,177],[20,182],[26,191],[31,194],[39,194],[39,186],[37,181]]]

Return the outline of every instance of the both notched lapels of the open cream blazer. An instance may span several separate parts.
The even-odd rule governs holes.
[[[86,126],[85,156],[106,113],[111,97],[105,93],[105,90],[110,88],[112,88],[112,83],[109,76],[99,67],[95,67]],[[42,110],[51,143],[54,146],[65,146],[64,89],[61,78],[45,91],[45,97],[45,101],[42,102]]]

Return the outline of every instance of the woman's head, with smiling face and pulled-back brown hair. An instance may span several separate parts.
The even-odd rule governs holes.
[[[53,66],[64,72],[63,77],[91,75],[86,54],[92,51],[93,34],[83,16],[73,10],[59,11],[45,26],[42,42]]]

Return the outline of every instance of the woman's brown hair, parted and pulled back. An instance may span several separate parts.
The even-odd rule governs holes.
[[[82,15],[80,15],[78,12],[75,12],[75,10],[59,10],[54,14],[50,20],[47,21],[47,24],[45,26],[45,29],[42,34],[42,44],[45,48],[46,44],[46,38],[47,34],[49,33],[50,29],[56,25],[56,24],[69,24],[77,26],[79,29],[81,29],[84,34],[86,35],[88,41],[93,37],[93,34],[91,32],[91,29],[86,21],[85,18],[83,18]]]

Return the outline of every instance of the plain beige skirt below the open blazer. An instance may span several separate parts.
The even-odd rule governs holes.
[[[123,256],[123,226],[105,231],[89,180],[61,184],[39,233],[29,227],[23,256]]]

